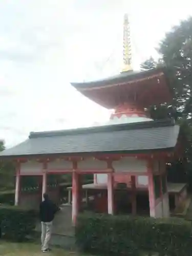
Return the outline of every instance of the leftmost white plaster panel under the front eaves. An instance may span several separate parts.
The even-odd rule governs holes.
[[[42,173],[43,165],[42,163],[35,162],[35,161],[28,161],[26,163],[20,164],[20,174],[41,174]]]

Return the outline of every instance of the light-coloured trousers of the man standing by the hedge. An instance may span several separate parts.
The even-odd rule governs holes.
[[[53,222],[42,222],[41,221],[41,248],[42,250],[49,248],[49,242],[51,239]]]

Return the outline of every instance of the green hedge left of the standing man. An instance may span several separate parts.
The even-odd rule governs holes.
[[[22,242],[30,235],[36,222],[36,212],[17,206],[0,206],[1,237]]]

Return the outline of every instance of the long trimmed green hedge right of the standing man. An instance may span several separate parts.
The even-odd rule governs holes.
[[[192,252],[191,223],[176,218],[80,215],[75,235],[79,250],[99,255],[187,256]]]

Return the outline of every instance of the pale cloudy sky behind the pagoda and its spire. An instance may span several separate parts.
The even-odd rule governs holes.
[[[0,139],[11,147],[31,131],[108,120],[109,111],[70,82],[122,69],[123,14],[131,22],[133,66],[156,57],[158,42],[192,14],[190,2],[161,0],[1,0]]]

